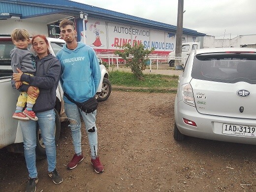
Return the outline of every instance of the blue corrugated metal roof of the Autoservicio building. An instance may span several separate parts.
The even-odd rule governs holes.
[[[66,13],[78,16],[83,11],[92,18],[105,19],[128,25],[141,26],[166,32],[176,32],[177,27],[149,19],[144,19],[96,6],[74,2],[70,0],[1,0],[1,13],[22,14],[21,18],[34,17],[51,13]],[[204,36],[205,33],[183,28],[183,34]]]

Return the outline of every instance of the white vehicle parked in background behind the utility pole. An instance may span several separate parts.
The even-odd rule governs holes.
[[[190,53],[196,49],[200,49],[200,43],[198,43],[198,42],[182,43],[181,57],[184,58],[183,60],[181,60],[182,65],[185,64]],[[175,63],[174,57],[175,57],[175,50],[169,53],[169,58],[167,61],[169,66],[174,66],[174,63]]]

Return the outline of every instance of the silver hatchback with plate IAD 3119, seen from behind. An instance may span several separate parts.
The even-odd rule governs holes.
[[[176,68],[175,140],[256,144],[256,49],[198,49]]]

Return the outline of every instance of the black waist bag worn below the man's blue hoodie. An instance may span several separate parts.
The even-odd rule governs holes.
[[[82,103],[76,102],[74,99],[72,99],[66,93],[64,93],[64,96],[66,96],[66,98],[68,100],[70,100],[72,103],[75,103],[82,111],[84,111],[86,113],[92,113],[97,109],[98,101],[95,96],[93,96],[92,98],[90,98],[87,101],[82,102]]]

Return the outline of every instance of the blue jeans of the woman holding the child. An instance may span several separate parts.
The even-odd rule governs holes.
[[[43,143],[46,149],[48,162],[48,172],[52,172],[56,166],[56,146],[55,146],[55,112],[49,110],[36,113],[38,124],[41,130]],[[36,147],[36,121],[20,121],[23,134],[24,155],[27,163],[30,178],[37,177],[35,166],[35,147]]]

